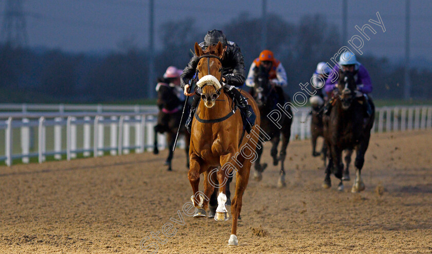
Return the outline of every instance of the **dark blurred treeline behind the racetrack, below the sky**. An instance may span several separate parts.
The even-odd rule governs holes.
[[[284,65],[289,87],[294,94],[298,84],[310,83],[316,64],[329,62],[342,46],[337,28],[319,15],[305,16],[298,24],[280,16],[268,17],[267,49]],[[236,42],[245,57],[246,74],[261,52],[261,21],[242,14],[219,27],[228,40]],[[213,27],[209,28],[213,29]],[[155,71],[161,75],[169,65],[183,68],[191,57],[190,49],[201,42],[206,31],[195,21],[167,22],[160,28],[162,50],[155,52]],[[367,50],[366,50],[367,51]],[[373,96],[401,99],[403,66],[394,66],[387,58],[358,56],[369,70]],[[121,43],[120,50],[104,55],[70,54],[60,50],[0,46],[0,102],[13,103],[100,103],[145,99],[149,97],[148,53],[133,42]],[[432,70],[410,71],[413,99],[429,99]]]

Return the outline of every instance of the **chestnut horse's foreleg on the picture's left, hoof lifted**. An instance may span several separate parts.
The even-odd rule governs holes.
[[[190,169],[188,172],[188,179],[190,185],[192,186],[192,197],[191,201],[193,205],[197,208],[194,214],[194,218],[204,218],[207,217],[206,211],[203,209],[203,204],[205,199],[208,199],[205,194],[199,191],[200,184],[200,172],[201,168],[204,167],[204,163],[196,154],[192,153],[190,155]],[[208,168],[208,167],[207,167]]]

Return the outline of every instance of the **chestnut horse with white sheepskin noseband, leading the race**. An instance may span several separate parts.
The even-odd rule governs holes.
[[[194,218],[206,217],[208,197],[214,187],[218,187],[218,208],[214,220],[226,221],[229,219],[225,208],[225,186],[228,176],[236,171],[236,193],[231,199],[232,227],[228,245],[237,245],[237,221],[242,208],[243,193],[249,180],[250,166],[253,162],[250,159],[256,155],[258,135],[244,133],[240,110],[233,108],[232,99],[224,93],[221,87],[222,44],[218,43],[217,46],[209,47],[206,52],[203,52],[201,47],[195,43],[195,55],[200,59],[196,70],[201,101],[192,122],[189,150],[188,178],[193,191],[191,200],[197,208]],[[242,94],[257,114],[253,127],[253,131],[256,131],[257,125],[260,124],[258,107],[249,94],[246,92]],[[244,147],[247,147],[247,152],[244,151]],[[201,173],[204,173],[204,193],[199,191]]]

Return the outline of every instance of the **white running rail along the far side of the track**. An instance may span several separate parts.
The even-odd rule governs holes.
[[[26,110],[19,110],[17,105],[21,109],[25,105]],[[29,163],[30,158],[38,158],[42,163],[47,156],[70,160],[81,155],[98,157],[105,152],[116,155],[153,150],[155,106],[0,104],[0,108],[19,110],[0,112],[0,161],[8,166],[16,159]],[[56,112],[30,112],[30,109]],[[295,113],[291,139],[310,138],[308,114],[308,107]],[[372,132],[426,128],[432,128],[432,105],[392,106],[376,108]],[[159,134],[158,141],[159,149],[164,149],[164,135]],[[184,140],[178,145],[184,147]]]

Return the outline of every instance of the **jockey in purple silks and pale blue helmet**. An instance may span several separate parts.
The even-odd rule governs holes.
[[[366,68],[359,62],[357,62],[355,55],[352,52],[344,52],[340,55],[338,64],[341,66],[343,71],[356,72],[355,80],[357,84],[357,90],[355,96],[357,100],[364,99],[364,105],[366,113],[370,116],[372,114],[372,108],[369,104],[368,93],[372,92],[372,82]],[[335,77],[338,76],[339,65],[335,65],[330,72],[329,78],[325,84],[325,91],[331,97],[333,90],[337,89],[337,80],[332,82]],[[331,104],[327,105],[327,114],[330,114]]]

